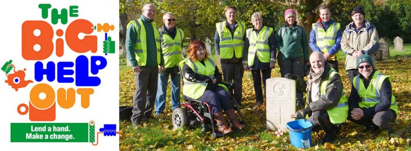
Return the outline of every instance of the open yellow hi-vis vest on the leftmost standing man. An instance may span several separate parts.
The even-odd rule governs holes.
[[[154,22],[152,22],[152,24],[154,30],[154,37],[156,39],[157,63],[160,64],[160,34],[158,33],[156,24]],[[127,29],[130,25],[133,25],[137,31],[137,40],[133,48],[136,53],[136,60],[138,61],[138,66],[145,66],[145,64],[147,63],[147,37],[143,21],[141,21],[141,19],[132,20],[127,24]]]

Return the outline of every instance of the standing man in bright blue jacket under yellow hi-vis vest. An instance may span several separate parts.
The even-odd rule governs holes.
[[[331,12],[327,6],[320,6],[319,10],[320,18],[312,24],[309,45],[312,51],[323,53],[325,60],[338,72],[337,52],[343,36],[341,25],[330,19]]]

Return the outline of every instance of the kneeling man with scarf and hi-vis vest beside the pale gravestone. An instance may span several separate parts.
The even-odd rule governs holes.
[[[325,130],[321,143],[332,142],[339,132],[341,123],[348,116],[347,98],[341,76],[326,63],[321,52],[310,55],[311,71],[307,82],[307,105],[296,113],[297,119],[305,119],[313,124],[313,131]]]

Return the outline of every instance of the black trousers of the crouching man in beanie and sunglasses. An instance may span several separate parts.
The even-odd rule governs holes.
[[[381,111],[377,112],[372,119],[360,119],[360,120],[354,120],[351,118],[351,113],[348,113],[348,120],[351,122],[354,122],[359,125],[363,126],[378,126],[381,128],[381,130],[388,130],[388,128],[391,126],[391,122],[394,122],[395,119],[397,118],[397,114],[391,109],[388,109],[386,111]]]

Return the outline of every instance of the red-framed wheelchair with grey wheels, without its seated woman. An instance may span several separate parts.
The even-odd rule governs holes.
[[[225,84],[227,88],[230,88],[233,86],[234,82],[228,83],[225,81],[221,82],[222,84]],[[246,124],[244,121],[244,118],[242,118],[242,114],[240,111],[240,107],[238,106],[238,102],[234,99],[232,92],[229,92],[231,101],[234,104],[234,112],[237,111],[237,114],[239,115],[239,122],[241,124]],[[198,100],[198,99],[193,99],[190,97],[187,97],[183,95],[183,100],[185,102],[181,103],[182,107],[177,107],[173,111],[173,127],[174,128],[179,128],[179,127],[191,127],[191,128],[197,128],[200,125],[202,126],[202,133],[207,133],[209,131],[212,131],[213,137],[219,138],[222,137],[223,134],[215,130],[216,122],[214,120],[213,115],[211,114],[211,109],[210,105],[207,102]]]

